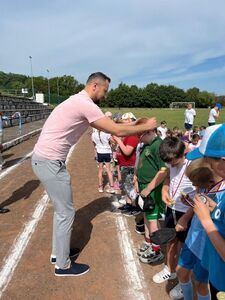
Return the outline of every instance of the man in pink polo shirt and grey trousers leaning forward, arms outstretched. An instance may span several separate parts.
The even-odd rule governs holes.
[[[89,271],[85,264],[71,263],[70,238],[74,221],[70,176],[65,160],[68,152],[89,126],[116,136],[133,135],[156,127],[155,118],[146,124],[116,124],[95,104],[104,99],[110,78],[101,72],[88,77],[80,93],[58,105],[48,117],[34,147],[32,168],[53,201],[51,262],[56,276],[79,276]]]

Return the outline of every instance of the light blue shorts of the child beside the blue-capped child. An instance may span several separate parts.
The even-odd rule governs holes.
[[[194,253],[187,247],[185,243],[181,249],[178,265],[185,269],[193,270],[195,279],[198,282],[209,282],[208,271],[201,266],[201,261],[196,255],[194,255]]]

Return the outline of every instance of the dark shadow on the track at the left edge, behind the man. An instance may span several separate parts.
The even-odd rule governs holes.
[[[0,207],[10,205],[21,199],[28,199],[30,197],[30,195],[33,193],[33,191],[38,188],[39,185],[40,185],[39,180],[27,181],[19,189],[13,191],[12,195],[8,199],[6,199],[2,203],[0,203]]]

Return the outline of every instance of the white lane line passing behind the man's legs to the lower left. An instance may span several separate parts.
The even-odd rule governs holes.
[[[75,146],[70,149],[67,161],[69,160],[74,148]],[[43,217],[48,203],[49,198],[47,194],[44,193],[43,197],[38,201],[30,220],[24,225],[23,230],[14,240],[13,245],[9,250],[8,257],[4,259],[4,264],[0,271],[0,298],[12,279],[14,271],[38,225],[38,222]]]

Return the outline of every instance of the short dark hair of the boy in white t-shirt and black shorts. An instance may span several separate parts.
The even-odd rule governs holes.
[[[185,144],[177,137],[166,137],[159,147],[159,155],[164,162],[183,157]]]

